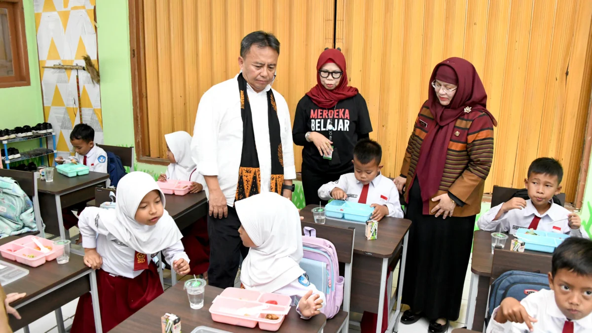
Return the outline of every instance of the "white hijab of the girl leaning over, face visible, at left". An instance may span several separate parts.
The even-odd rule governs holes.
[[[140,202],[150,193],[158,190],[165,206],[165,195],[160,191],[151,175],[141,171],[130,172],[117,184],[117,205],[115,209],[98,209],[101,222],[111,235],[130,248],[143,254],[154,254],[169,248],[182,238],[181,231],[164,210],[162,217],[153,226],[141,225],[134,217]],[[88,209],[88,208],[87,208]],[[86,210],[86,209],[85,209]]]

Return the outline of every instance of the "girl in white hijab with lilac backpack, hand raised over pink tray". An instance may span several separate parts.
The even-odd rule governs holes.
[[[303,257],[300,214],[292,201],[265,192],[234,203],[240,239],[249,248],[240,281],[244,289],[292,297],[301,317],[321,313],[325,294],[308,281],[298,263]]]

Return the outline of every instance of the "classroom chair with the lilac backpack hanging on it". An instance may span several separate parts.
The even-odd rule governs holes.
[[[319,225],[310,222],[300,222],[303,228],[303,235],[305,235],[304,228],[308,227],[316,230],[316,237],[323,238],[330,241],[335,246],[337,252],[337,260],[345,265],[343,284],[343,305],[342,310],[333,318],[327,319],[327,324],[323,328],[324,333],[348,333],[349,330],[349,302],[350,290],[352,286],[352,259],[353,259],[353,239],[355,236],[355,229],[342,228],[338,226]]]

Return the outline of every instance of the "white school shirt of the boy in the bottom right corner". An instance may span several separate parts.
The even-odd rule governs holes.
[[[540,290],[529,294],[520,304],[526,308],[526,312],[536,318],[537,322],[532,323],[536,333],[560,333],[567,318],[559,310],[555,303],[555,292],[553,290]],[[526,324],[517,324],[510,321],[500,324],[495,321],[500,308],[493,310],[491,321],[487,326],[486,333],[530,333]],[[592,314],[574,322],[574,333],[592,332]]]

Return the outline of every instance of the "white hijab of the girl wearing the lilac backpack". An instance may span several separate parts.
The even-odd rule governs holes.
[[[240,281],[247,289],[273,293],[304,274],[300,214],[277,193],[257,194],[234,203],[240,223],[256,248],[244,258]]]

